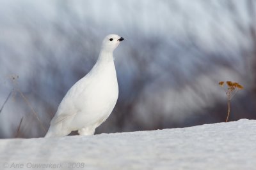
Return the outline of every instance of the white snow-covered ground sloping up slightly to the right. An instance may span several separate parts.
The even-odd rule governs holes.
[[[0,169],[250,170],[256,169],[255,132],[256,120],[243,119],[158,131],[1,139]]]

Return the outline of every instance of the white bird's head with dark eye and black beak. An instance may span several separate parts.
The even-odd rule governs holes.
[[[102,50],[106,52],[113,52],[115,48],[119,45],[121,41],[123,41],[124,38],[116,35],[116,34],[109,34],[104,38],[102,42]]]

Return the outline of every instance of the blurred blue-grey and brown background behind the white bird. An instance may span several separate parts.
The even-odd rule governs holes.
[[[256,118],[256,2],[0,1],[0,138],[45,135],[61,99],[115,50],[119,97],[102,132],[225,122],[219,81],[244,86],[230,121]]]

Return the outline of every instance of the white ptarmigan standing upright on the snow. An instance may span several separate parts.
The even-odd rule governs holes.
[[[109,117],[118,98],[113,51],[123,40],[116,34],[104,38],[95,66],[68,90],[45,138],[66,136],[77,130],[80,135],[93,135]]]

